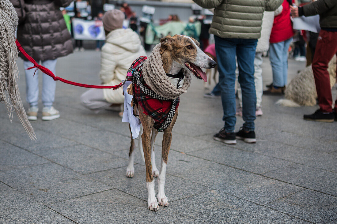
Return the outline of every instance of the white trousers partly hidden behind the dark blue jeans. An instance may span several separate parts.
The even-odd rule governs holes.
[[[261,107],[262,102],[262,93],[263,93],[263,83],[262,83],[262,52],[256,52],[254,59],[254,82],[255,82],[255,90],[256,90],[256,107]],[[242,107],[242,95],[241,95],[241,87],[238,85],[238,97],[239,104]]]

